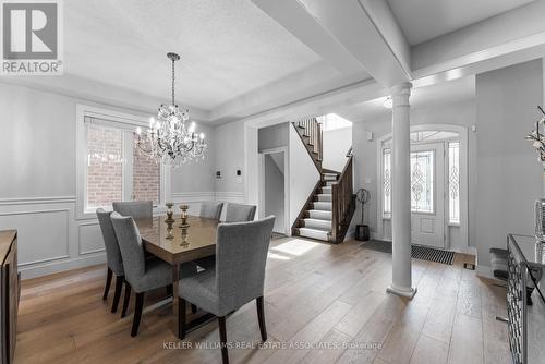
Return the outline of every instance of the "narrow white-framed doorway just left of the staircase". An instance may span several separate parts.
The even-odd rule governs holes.
[[[275,215],[272,231],[290,234],[288,198],[288,153],[286,148],[261,153],[259,218]]]

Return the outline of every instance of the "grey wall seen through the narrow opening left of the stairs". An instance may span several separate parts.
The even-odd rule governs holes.
[[[265,155],[265,216],[275,215],[272,231],[286,233],[284,227],[284,174],[280,170],[283,166],[283,151]]]

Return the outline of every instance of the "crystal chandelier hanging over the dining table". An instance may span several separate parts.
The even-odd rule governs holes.
[[[172,61],[172,104],[162,104],[157,113],[157,120],[149,120],[145,135],[142,129],[136,129],[135,141],[138,149],[156,161],[178,167],[197,157],[204,158],[207,145],[203,133],[195,133],[195,123],[187,126],[189,110],[180,111],[174,102],[174,62],[180,60],[177,53],[168,53]]]

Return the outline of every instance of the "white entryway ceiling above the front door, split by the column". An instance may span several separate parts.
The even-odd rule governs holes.
[[[411,108],[424,108],[431,105],[441,105],[470,100],[475,97],[475,76],[467,76],[455,81],[434,84],[432,86],[413,88]],[[391,110],[384,107],[384,97],[365,102],[353,104],[332,110],[352,122],[372,120],[388,116]]]

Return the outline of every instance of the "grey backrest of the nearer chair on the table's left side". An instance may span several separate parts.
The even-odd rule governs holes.
[[[123,258],[125,278],[131,286],[134,286],[134,282],[137,282],[146,271],[144,246],[138,228],[130,216],[125,217],[112,213],[110,218],[118,238],[121,257]]]

